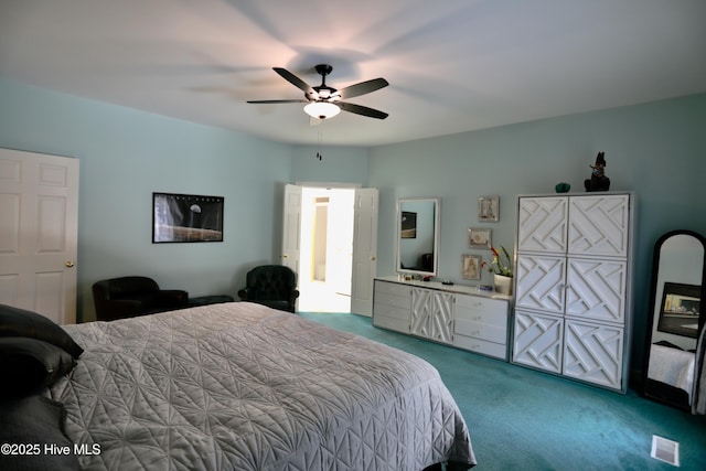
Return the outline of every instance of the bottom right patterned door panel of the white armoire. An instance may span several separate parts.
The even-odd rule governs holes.
[[[565,329],[564,375],[620,388],[623,330],[570,320]]]

